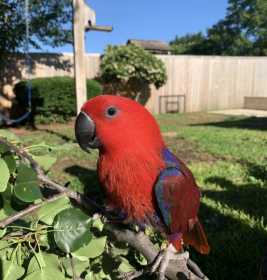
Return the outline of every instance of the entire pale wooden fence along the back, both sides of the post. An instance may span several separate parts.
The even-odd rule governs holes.
[[[160,108],[161,112],[243,108],[245,97],[267,97],[267,57],[158,57],[166,65],[168,81],[159,90],[151,88],[146,106],[154,113]],[[57,63],[54,59],[48,54],[33,56],[32,77],[73,76],[72,55],[58,56]],[[88,54],[86,60],[87,77],[93,78],[99,71],[100,56]],[[59,67],[60,61],[65,67]],[[23,67],[21,72],[25,76]]]

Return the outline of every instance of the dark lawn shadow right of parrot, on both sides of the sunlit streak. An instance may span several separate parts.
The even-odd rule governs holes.
[[[201,216],[204,221],[206,219],[205,228],[212,247],[206,270],[211,273],[211,279],[258,279],[266,254],[267,233],[260,226],[260,221],[267,221],[267,185],[263,183],[266,169],[262,165],[243,164],[248,177],[255,180],[253,183],[238,185],[223,177],[213,176],[206,179],[206,183],[217,184],[223,190],[206,190],[203,195],[240,211],[240,217],[243,211],[257,220],[259,226],[245,223],[234,216],[224,216],[207,205],[201,206]],[[205,267],[205,263],[202,266]]]

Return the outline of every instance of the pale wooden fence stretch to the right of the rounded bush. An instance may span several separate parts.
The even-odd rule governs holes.
[[[266,57],[160,58],[166,65],[168,82],[153,90],[148,105],[155,112],[159,96],[164,95],[184,95],[186,112],[243,108],[246,96],[267,97]]]

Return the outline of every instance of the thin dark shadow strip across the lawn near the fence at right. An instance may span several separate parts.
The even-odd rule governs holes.
[[[191,126],[216,126],[224,128],[245,128],[254,130],[267,130],[267,117],[229,118],[222,122],[192,124]]]

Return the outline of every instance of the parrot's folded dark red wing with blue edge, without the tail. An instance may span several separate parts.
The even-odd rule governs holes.
[[[164,149],[165,169],[159,174],[154,192],[160,216],[168,230],[185,232],[197,216],[200,192],[190,170],[168,149]]]

